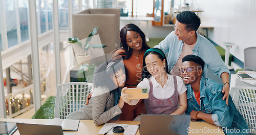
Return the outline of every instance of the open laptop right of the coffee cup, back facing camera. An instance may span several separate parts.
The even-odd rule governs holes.
[[[141,115],[140,134],[188,134],[189,115]]]

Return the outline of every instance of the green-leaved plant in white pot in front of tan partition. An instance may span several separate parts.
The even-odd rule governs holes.
[[[88,53],[88,50],[90,48],[95,49],[106,47],[104,44],[91,44],[92,37],[97,33],[97,31],[98,27],[95,27],[93,31],[91,31],[91,33],[89,34],[83,46],[78,38],[69,38],[68,42],[73,43],[73,46],[77,45],[79,47],[79,51],[75,53],[77,64],[91,59],[91,54]]]

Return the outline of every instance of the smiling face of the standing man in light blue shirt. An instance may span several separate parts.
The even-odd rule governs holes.
[[[188,32],[185,28],[185,24],[181,24],[178,20],[176,21],[174,33],[177,35],[178,40],[186,41],[191,37],[192,31]]]

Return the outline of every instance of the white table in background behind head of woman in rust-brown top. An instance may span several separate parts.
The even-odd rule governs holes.
[[[146,41],[149,41],[148,39],[148,21],[155,20],[154,17],[145,17],[145,16],[139,16],[139,17],[131,17],[131,16],[120,16],[120,20],[135,20],[135,21],[146,21]]]

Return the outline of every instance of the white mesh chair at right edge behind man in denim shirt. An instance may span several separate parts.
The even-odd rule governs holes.
[[[256,130],[256,87],[231,87],[230,95],[252,131]]]

